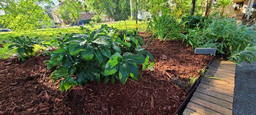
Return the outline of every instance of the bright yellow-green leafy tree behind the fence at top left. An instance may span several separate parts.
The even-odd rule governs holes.
[[[1,0],[0,10],[4,14],[0,21],[6,28],[21,31],[49,26],[50,18],[41,6],[50,3],[49,0]]]

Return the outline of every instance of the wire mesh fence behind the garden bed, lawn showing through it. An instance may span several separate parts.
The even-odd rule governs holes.
[[[60,32],[81,33],[81,28],[93,30],[102,24],[145,31],[149,13],[138,8],[137,0],[1,0],[0,58],[13,54],[5,44],[9,36],[49,40]]]

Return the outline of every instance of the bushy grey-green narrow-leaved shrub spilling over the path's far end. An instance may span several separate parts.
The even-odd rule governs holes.
[[[256,31],[253,28],[255,26],[242,26],[232,18],[216,17],[204,28],[190,29],[187,35],[181,34],[181,37],[192,48],[216,48],[218,53],[237,64],[242,61],[252,63],[256,61]]]

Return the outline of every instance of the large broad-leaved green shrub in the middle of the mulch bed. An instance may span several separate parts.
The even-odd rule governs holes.
[[[53,80],[64,78],[59,86],[61,91],[77,84],[84,85],[88,81],[99,82],[103,79],[105,83],[114,83],[119,79],[124,84],[129,76],[132,80],[138,80],[138,65],[142,64],[143,70],[152,69],[154,58],[140,46],[137,36],[137,33],[121,32],[106,25],[83,35],[59,35],[55,37],[60,38],[55,39],[60,40],[58,49],[52,52],[50,60],[46,62],[47,69],[57,65],[51,77]],[[125,52],[133,45],[136,54]],[[148,59],[152,62],[149,63]]]

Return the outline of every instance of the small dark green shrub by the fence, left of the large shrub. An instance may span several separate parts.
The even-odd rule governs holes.
[[[35,55],[35,45],[48,46],[44,44],[44,41],[39,41],[39,37],[10,37],[12,45],[8,46],[8,50],[17,49],[17,53],[20,55],[20,60],[25,61],[32,55]]]

